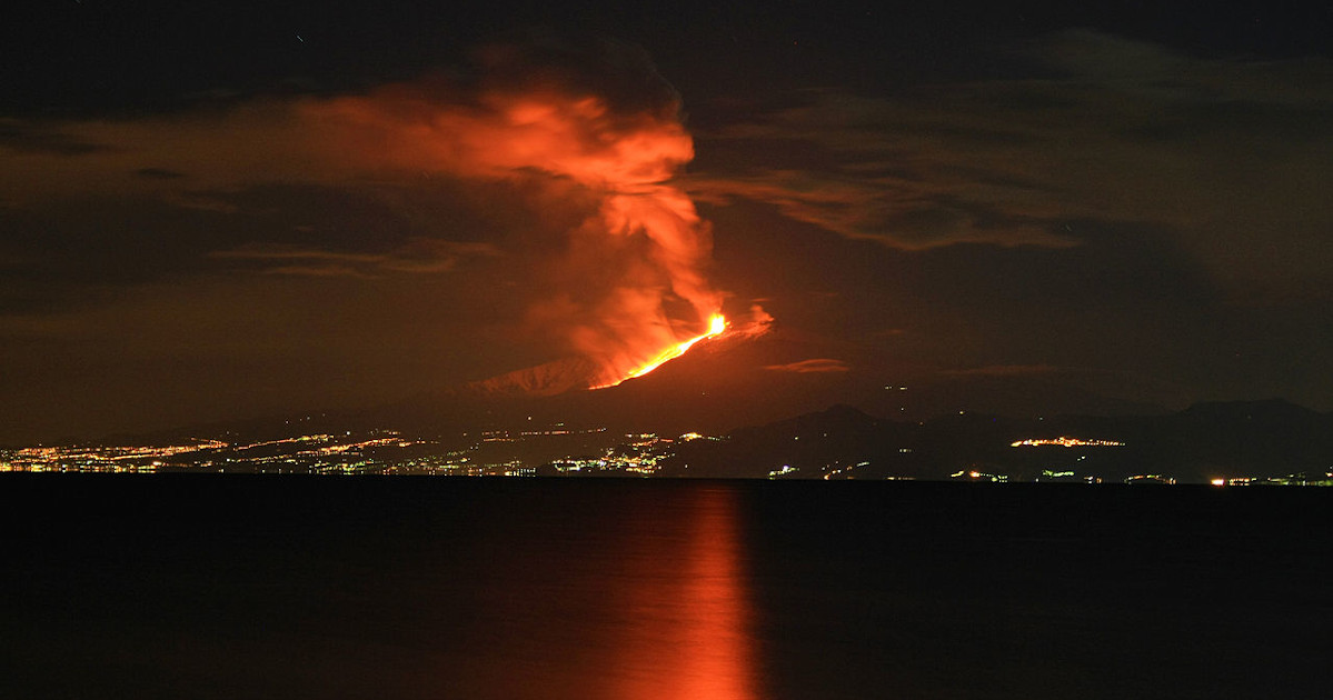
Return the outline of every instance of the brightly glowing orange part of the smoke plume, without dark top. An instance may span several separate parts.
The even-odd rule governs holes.
[[[575,183],[596,213],[571,232],[565,253],[545,264],[600,277],[591,281],[600,292],[552,289],[559,304],[543,305],[533,319],[564,325],[571,349],[603,368],[588,377],[600,385],[697,333],[721,308],[721,295],[704,277],[712,237],[693,203],[668,183],[693,157],[677,104],[627,112],[547,80],[553,79],[483,91],[461,105],[447,88],[395,85],[305,104],[303,112],[352,153],[401,169],[539,187]],[[677,317],[669,311],[673,300],[693,313]],[[557,317],[553,308],[565,313]]]

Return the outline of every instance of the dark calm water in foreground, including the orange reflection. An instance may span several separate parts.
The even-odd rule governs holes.
[[[0,479],[0,697],[1322,697],[1333,489]]]

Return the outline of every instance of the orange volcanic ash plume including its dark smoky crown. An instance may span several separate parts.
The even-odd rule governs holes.
[[[531,319],[563,336],[573,357],[496,377],[487,383],[493,388],[616,384],[720,323],[721,295],[704,273],[710,233],[670,184],[693,157],[678,99],[641,53],[600,51],[588,71],[585,56],[551,47],[491,49],[491,77],[480,87],[395,85],[309,107],[313,123],[339,131],[339,143],[400,168],[536,176],[551,187],[573,183],[595,201],[596,213],[569,232],[565,259],[551,265],[597,283],[580,283],[577,293],[551,289]]]

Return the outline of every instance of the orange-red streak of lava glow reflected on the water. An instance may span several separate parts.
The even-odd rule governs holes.
[[[737,493],[696,492],[688,536],[664,556],[633,557],[633,621],[617,640],[616,700],[753,700],[754,648]],[[682,532],[684,533],[684,532]]]

